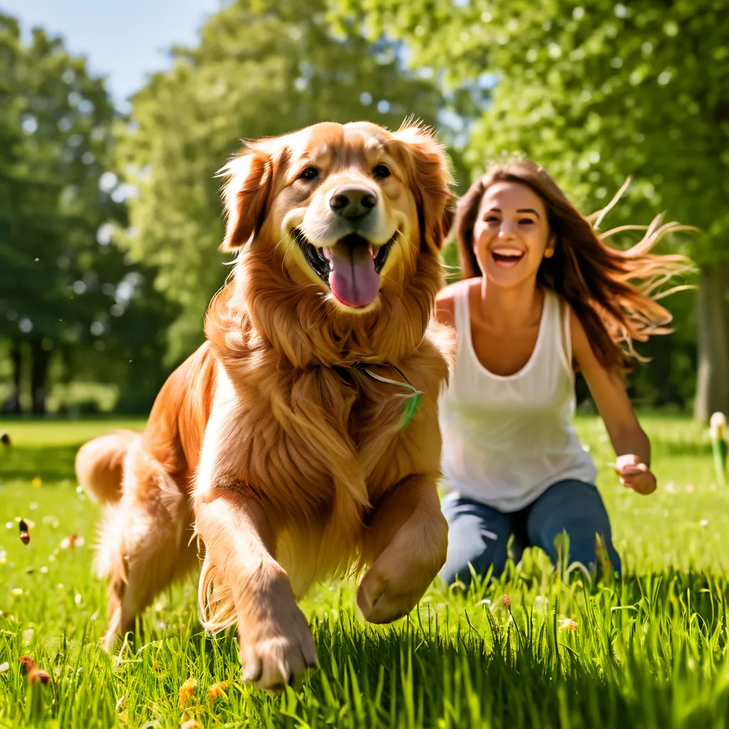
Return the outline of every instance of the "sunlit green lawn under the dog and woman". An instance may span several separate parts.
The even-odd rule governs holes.
[[[72,464],[79,443],[119,423],[0,423],[14,439],[0,450],[0,727],[725,727],[729,488],[714,486],[698,426],[642,422],[660,482],[649,497],[609,473],[599,421],[579,424],[601,467],[620,583],[588,588],[528,550],[501,582],[465,597],[434,586],[408,619],[379,628],[356,615],[352,585],[321,586],[303,604],[321,668],[282,696],[243,687],[235,636],[200,631],[192,580],[147,611],[144,642],[104,654],[105,588],[90,569],[98,510]],[[28,546],[17,517],[35,523]],[[69,534],[85,546],[62,550]],[[29,686],[20,655],[50,683]],[[213,702],[221,681],[225,697]]]

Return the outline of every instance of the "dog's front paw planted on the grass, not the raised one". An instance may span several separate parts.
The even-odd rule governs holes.
[[[243,681],[257,688],[280,691],[295,685],[307,668],[319,666],[316,646],[303,612],[292,604],[273,609],[260,622],[239,626]]]

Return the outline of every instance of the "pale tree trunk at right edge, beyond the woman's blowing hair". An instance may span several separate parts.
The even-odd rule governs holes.
[[[729,416],[729,346],[726,264],[701,267],[698,284],[698,362],[694,416],[706,421],[719,410]]]

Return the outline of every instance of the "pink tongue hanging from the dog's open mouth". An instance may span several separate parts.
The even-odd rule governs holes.
[[[367,245],[337,243],[324,249],[332,270],[329,285],[332,294],[347,306],[362,307],[372,303],[380,291],[380,276],[375,271],[372,250]]]

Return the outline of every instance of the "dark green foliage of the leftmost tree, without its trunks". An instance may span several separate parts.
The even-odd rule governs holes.
[[[1,104],[11,139],[1,176],[0,332],[15,335],[21,322],[34,338],[88,343],[90,324],[97,317],[103,324],[109,309],[101,288],[108,251],[96,230],[123,214],[98,187],[114,109],[103,84],[60,41],[36,30],[21,47],[17,24],[1,21],[4,58],[12,52],[12,71],[3,75],[12,82]]]

